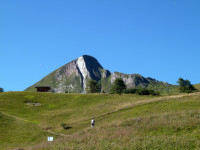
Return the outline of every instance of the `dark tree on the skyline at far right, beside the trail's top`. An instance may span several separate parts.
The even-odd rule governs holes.
[[[177,83],[179,84],[179,90],[181,93],[190,93],[196,90],[189,80],[179,78]]]

